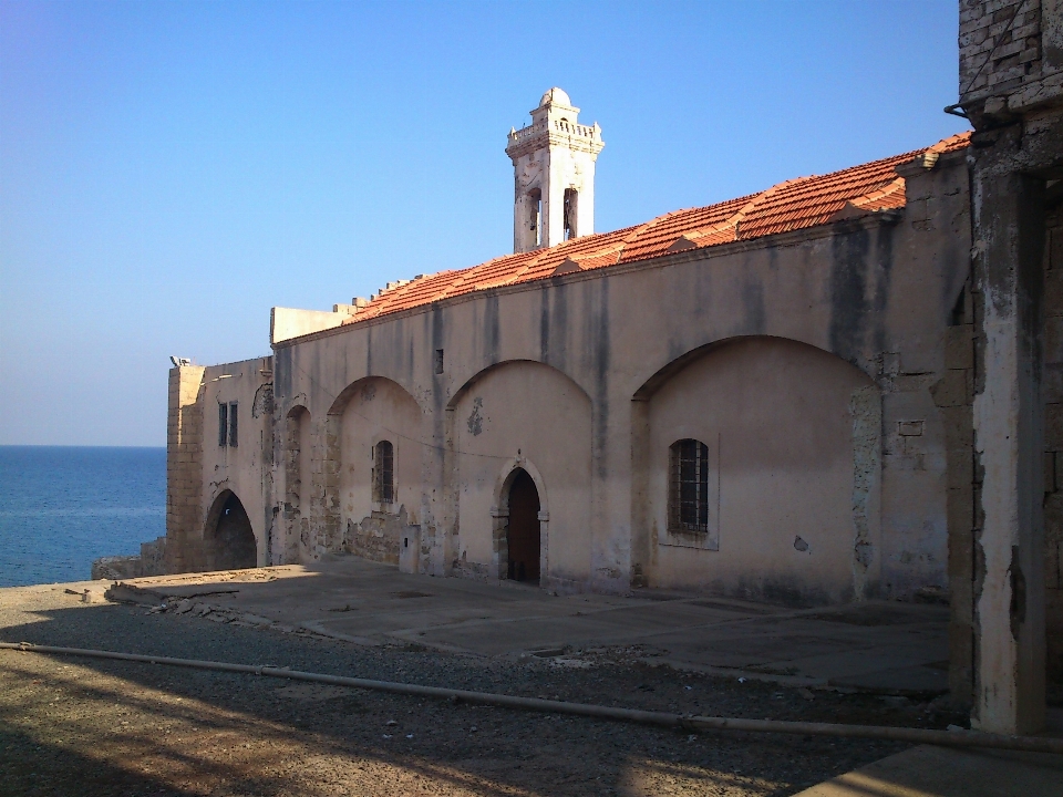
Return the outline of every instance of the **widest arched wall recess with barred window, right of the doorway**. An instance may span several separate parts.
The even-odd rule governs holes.
[[[735,338],[678,358],[633,400],[643,579],[796,604],[875,594],[881,397],[863,371]]]

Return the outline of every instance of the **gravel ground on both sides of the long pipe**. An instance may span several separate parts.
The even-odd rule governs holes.
[[[58,588],[0,590],[0,639],[274,664],[575,702],[945,727],[937,703],[781,687],[632,660],[485,660],[363,648]],[[905,745],[705,733],[362,690],[0,651],[2,795],[791,795]]]

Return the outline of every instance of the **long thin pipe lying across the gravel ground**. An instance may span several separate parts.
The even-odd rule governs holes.
[[[931,744],[943,747],[988,747],[993,749],[1024,751],[1030,753],[1055,753],[1063,755],[1063,738],[1040,736],[1000,736],[978,731],[930,731],[926,728],[889,727],[883,725],[840,725],[837,723],[786,722],[782,720],[735,720],[729,717],[704,717],[667,712],[617,708],[613,706],[591,705],[588,703],[567,703],[565,701],[539,700],[536,697],[516,697],[514,695],[491,692],[467,692],[441,686],[420,686],[393,681],[373,681],[370,679],[344,677],[342,675],[322,675],[286,667],[256,664],[230,664],[228,662],[197,661],[195,659],[172,659],[169,656],[142,655],[138,653],[115,653],[112,651],[86,650],[83,648],[55,648],[35,645],[29,642],[0,642],[0,649],[27,653],[55,653],[59,655],[89,656],[92,659],[115,659],[118,661],[142,662],[145,664],[167,664],[171,666],[193,667],[196,670],[216,670],[218,672],[247,673],[269,677],[307,681],[310,683],[350,686],[352,689],[390,692],[392,694],[415,695],[419,697],[440,697],[443,700],[465,701],[478,705],[494,705],[523,711],[537,711],[550,714],[572,714],[598,720],[617,720],[646,725],[675,727],[684,731],[744,731],[746,733],[782,733],[799,736],[835,736],[840,738],[869,738],[911,744]]]

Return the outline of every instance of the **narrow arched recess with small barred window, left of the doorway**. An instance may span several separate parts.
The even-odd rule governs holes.
[[[322,468],[330,550],[398,561],[401,527],[420,522],[421,417],[383,376],[353,382],[332,403]]]

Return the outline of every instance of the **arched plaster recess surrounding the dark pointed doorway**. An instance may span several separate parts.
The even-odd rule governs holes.
[[[514,472],[539,499],[540,583],[586,582],[591,562],[591,401],[568,375],[515,360],[469,379],[447,405],[447,514],[460,570],[507,577],[505,493]]]

